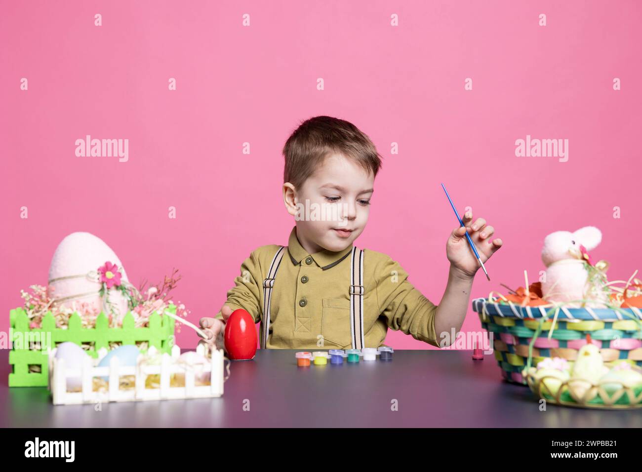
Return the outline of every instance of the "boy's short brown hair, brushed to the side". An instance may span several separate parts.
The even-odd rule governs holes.
[[[381,156],[359,128],[345,119],[315,116],[301,123],[283,147],[283,182],[299,189],[333,153],[352,159],[374,177],[381,168]]]

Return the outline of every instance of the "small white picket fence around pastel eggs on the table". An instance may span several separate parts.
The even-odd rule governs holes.
[[[199,346],[199,348],[202,346]],[[153,349],[153,348],[150,348]],[[204,354],[197,349],[199,354]],[[148,401],[171,400],[187,398],[211,398],[223,395],[223,349],[211,350],[211,362],[200,365],[197,370],[193,366],[178,363],[180,348],[175,345],[172,355],[162,354],[160,365],[149,365],[139,362],[135,367],[119,365],[118,358],[113,356],[108,367],[97,367],[96,360],[87,356],[83,359],[82,369],[67,369],[64,359],[56,359],[56,349],[49,353],[49,390],[53,396],[54,405],[77,405],[79,403],[96,403],[98,401]],[[160,374],[160,388],[145,388],[148,375]],[[173,387],[170,385],[172,374],[184,374],[185,386]],[[207,375],[209,374],[209,375]],[[134,389],[119,389],[119,377],[125,375],[135,376]],[[196,375],[201,378],[209,377],[209,385],[195,385]],[[107,391],[94,392],[93,378],[108,377]],[[80,392],[67,392],[67,380],[80,378],[82,390]]]

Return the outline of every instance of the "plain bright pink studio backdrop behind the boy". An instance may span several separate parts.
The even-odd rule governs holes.
[[[628,278],[642,229],[641,5],[4,1],[0,331],[74,231],[105,240],[135,284],[180,268],[191,320],[216,313],[253,249],[287,243],[281,149],[320,114],[352,121],[385,158],[357,244],[400,261],[429,299],[444,291],[456,227],[440,182],[505,244],[473,297],[523,284],[525,269],[535,280],[544,236],[584,225],[603,232],[592,258]],[[76,157],[86,134],[129,139],[129,161]],[[526,134],[569,139],[569,161],[516,157]],[[464,331],[479,329],[469,310]],[[178,335],[196,342],[190,329]],[[386,343],[429,348],[394,331]]]

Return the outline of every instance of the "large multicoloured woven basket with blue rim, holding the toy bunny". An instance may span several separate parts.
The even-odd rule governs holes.
[[[642,311],[560,307],[555,317],[550,307],[500,303],[500,299],[474,299],[482,328],[492,333],[493,351],[505,380],[528,385],[522,371],[528,364],[528,348],[536,336],[530,365],[548,357],[561,357],[571,364],[586,344],[586,335],[602,344],[600,352],[607,365],[627,360],[642,367]],[[549,339],[548,334],[555,327]],[[540,331],[538,333],[538,331]]]

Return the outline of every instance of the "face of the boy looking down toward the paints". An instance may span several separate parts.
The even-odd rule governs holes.
[[[298,216],[292,213],[291,205],[288,211],[297,217],[302,245],[308,246],[311,254],[349,247],[368,222],[373,185],[372,173],[356,162],[341,154],[329,155],[300,189],[293,189]]]

